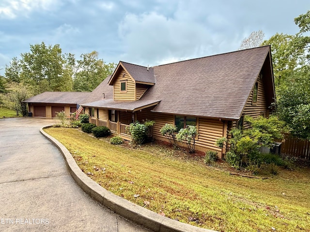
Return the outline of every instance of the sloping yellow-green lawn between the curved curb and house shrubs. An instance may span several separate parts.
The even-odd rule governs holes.
[[[246,178],[161,146],[130,149],[77,129],[45,131],[102,187],[166,217],[225,232],[310,232],[310,168]]]

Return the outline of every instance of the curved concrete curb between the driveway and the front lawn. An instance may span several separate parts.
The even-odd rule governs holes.
[[[84,174],[67,148],[44,132],[45,128],[48,127],[41,128],[40,132],[60,150],[72,178],[95,201],[102,203],[118,215],[155,232],[215,232],[161,216],[109,192]]]

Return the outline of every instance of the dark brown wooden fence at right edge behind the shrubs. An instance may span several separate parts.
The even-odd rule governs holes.
[[[285,142],[281,145],[281,153],[301,159],[310,160],[310,141],[290,138],[285,135]]]

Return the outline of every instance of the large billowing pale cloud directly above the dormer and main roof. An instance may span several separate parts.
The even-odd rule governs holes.
[[[207,56],[216,44],[227,40],[214,35],[203,22],[176,20],[155,12],[127,14],[118,31],[124,43],[123,58],[144,65]]]

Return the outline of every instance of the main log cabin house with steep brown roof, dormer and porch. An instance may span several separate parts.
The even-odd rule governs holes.
[[[270,46],[150,68],[120,61],[114,73],[80,101],[91,123],[127,140],[126,128],[136,120],[155,120],[153,138],[164,141],[159,130],[166,123],[178,129],[195,125],[196,149],[215,150],[222,158],[225,149],[217,147],[216,140],[243,126],[245,115],[268,116],[275,102]],[[38,101],[30,103],[36,116]]]

